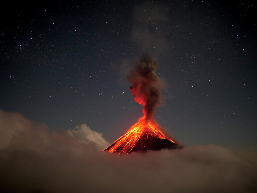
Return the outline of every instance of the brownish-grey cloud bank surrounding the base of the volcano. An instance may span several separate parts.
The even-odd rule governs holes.
[[[4,192],[256,190],[256,165],[216,145],[117,156],[99,151],[106,141],[85,124],[52,132],[1,110],[0,141]]]

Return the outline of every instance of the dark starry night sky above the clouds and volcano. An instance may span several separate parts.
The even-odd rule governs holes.
[[[126,77],[143,54],[163,79],[155,118],[185,146],[256,148],[254,1],[1,5],[0,108],[113,142],[142,116]],[[7,11],[7,12],[4,12]]]

